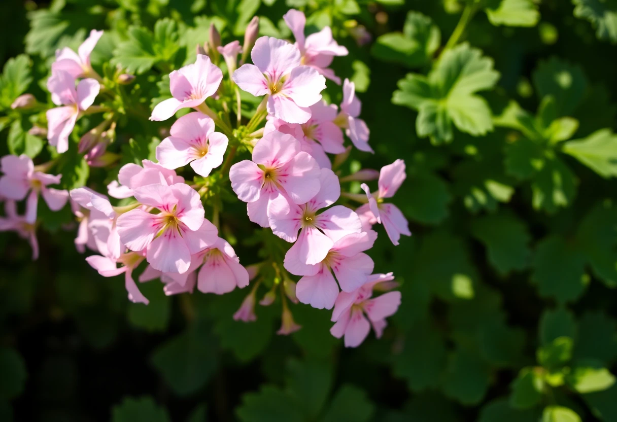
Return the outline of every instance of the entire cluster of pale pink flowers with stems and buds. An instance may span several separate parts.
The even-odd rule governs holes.
[[[46,174],[53,161],[35,167],[25,155],[2,158],[0,196],[6,202],[6,217],[0,220],[0,230],[17,230],[29,238],[36,259],[39,193],[51,210],[62,209],[70,194],[79,221],[77,250],[95,252],[86,260],[102,276],[124,274],[133,302],[148,304],[133,278],[138,267],[144,267],[139,282],[158,278],[168,295],[192,293],[196,287],[203,293],[225,294],[254,280],[233,316],[236,320],[256,319],[256,294],[265,285],[269,290],[259,301],[261,305],[272,304],[281,292],[280,334],[300,328],[288,302],[302,302],[333,309],[331,333],[344,336],[346,346],[360,344],[370,326],[380,337],[387,316],[400,304],[400,292],[371,298],[373,292],[395,284],[389,283],[392,273],[373,273],[375,264],[366,252],[378,237],[373,230],[377,223],[383,223],[394,244],[401,234],[411,234],[400,210],[384,202],[405,180],[405,163],[397,160],[381,172],[360,170],[339,179],[337,168],[353,147],[373,152],[368,127],[359,118],[362,104],[354,83],[342,81],[339,105],[328,104],[321,95],[326,78],[341,85],[341,78],[329,66],[334,57],[346,56],[347,49],[337,44],[328,27],[305,36],[302,12],[289,10],[284,21],[295,43],[257,38],[259,20],[255,18],[242,46],[239,41],[223,46],[212,26],[210,41],[197,47],[195,62],[170,73],[171,97],[154,107],[150,120],[163,122],[189,110],[181,111],[170,128],[165,128],[168,136],[155,149],[157,162],[123,165],[117,180],[107,185],[109,196],[88,187],[70,192],[49,188],[49,184],[60,183],[60,176]],[[93,106],[99,91],[109,89],[107,79],[97,75],[89,59],[101,36],[102,31],[92,31],[78,54],[67,48],[58,51],[52,65],[47,86],[59,107],[46,113],[47,134],[59,154],[71,147],[69,136],[79,117],[109,111]],[[245,63],[249,54],[252,64]],[[218,66],[221,57],[223,68]],[[247,122],[239,90],[263,97]],[[226,98],[233,96],[237,104],[230,106]],[[91,167],[111,163],[104,158],[117,129],[117,119],[110,113],[112,117],[88,131],[77,146],[77,153],[84,154]],[[233,113],[235,127],[230,119]],[[350,146],[346,146],[346,137]],[[192,171],[186,167],[189,164]],[[357,189],[357,182],[376,178],[378,191],[374,193],[362,184],[366,196],[344,189],[346,183],[355,181]],[[249,220],[269,229],[264,233],[271,230],[275,236],[267,235],[284,254],[273,253],[246,268],[241,265],[218,231],[221,192],[231,193],[230,188],[246,202]],[[21,217],[15,201],[26,197]],[[349,201],[362,205],[353,209]],[[276,276],[270,277],[269,270]]]

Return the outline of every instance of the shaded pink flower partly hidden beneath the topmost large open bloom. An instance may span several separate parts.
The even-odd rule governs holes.
[[[321,168],[331,168],[329,154],[345,152],[341,128],[334,124],[336,106],[328,106],[324,101],[318,101],[309,107],[311,117],[306,123],[287,123],[279,118],[269,118],[264,134],[280,131],[294,136],[300,141],[302,151],[308,152]]]

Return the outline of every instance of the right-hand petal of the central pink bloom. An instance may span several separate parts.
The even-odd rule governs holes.
[[[307,152],[299,152],[281,172],[286,176],[279,176],[278,181],[296,204],[305,204],[319,192],[321,170]]]

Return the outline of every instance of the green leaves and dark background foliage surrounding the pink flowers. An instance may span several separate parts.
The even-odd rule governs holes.
[[[394,247],[382,234],[371,250],[403,294],[383,339],[344,349],[329,312],[307,305],[288,337],[275,334],[280,304],[236,322],[246,289],[165,297],[151,281],[150,305],[131,304],[75,250],[68,207],[41,209],[36,262],[0,235],[0,420],[617,421],[613,0],[5,0],[1,155],[41,152],[27,134],[37,116],[10,103],[27,90],[49,102],[54,51],[89,30],[106,30],[100,73],[144,75],[131,96],[147,115],[210,22],[224,42],[253,15],[261,35],[290,38],[291,7],[350,50],[333,67],[355,82],[376,154],[354,151],[345,171],[407,163],[394,202],[413,236]],[[437,62],[470,7],[468,45]],[[360,25],[371,43],[358,45]],[[164,124],[123,125],[122,162],[151,157]],[[62,173],[65,188],[99,191],[115,176],[68,155]],[[268,233],[243,214],[226,204],[222,233],[247,265]]]

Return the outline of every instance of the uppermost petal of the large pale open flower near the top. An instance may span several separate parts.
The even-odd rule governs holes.
[[[262,36],[255,41],[251,59],[270,80],[278,80],[300,65],[300,50],[284,39]]]

